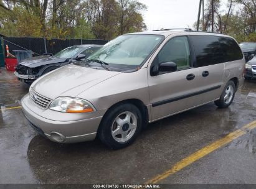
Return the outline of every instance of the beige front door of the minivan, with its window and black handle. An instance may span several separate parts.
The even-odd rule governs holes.
[[[148,69],[152,70],[154,65],[163,62],[176,63],[178,70],[148,75],[151,121],[196,105],[199,72],[197,68],[192,68],[191,49],[186,36],[174,37],[166,42]]]

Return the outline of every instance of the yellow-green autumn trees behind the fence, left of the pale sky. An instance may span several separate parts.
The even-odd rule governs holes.
[[[32,37],[113,39],[146,29],[137,0],[0,0],[0,32]]]

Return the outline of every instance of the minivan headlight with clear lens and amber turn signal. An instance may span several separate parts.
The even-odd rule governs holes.
[[[95,108],[88,101],[69,97],[56,98],[49,108],[64,113],[90,113],[95,111]]]

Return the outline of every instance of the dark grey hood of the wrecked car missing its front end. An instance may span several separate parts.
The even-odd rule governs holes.
[[[50,57],[50,56],[40,56],[40,57],[32,57],[31,59],[26,59],[21,62],[21,65],[29,68],[36,68],[43,65],[49,65],[52,63],[62,63],[66,62],[67,58],[57,58],[57,57]]]

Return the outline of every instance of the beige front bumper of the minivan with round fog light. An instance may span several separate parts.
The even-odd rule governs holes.
[[[33,129],[39,132],[39,134],[49,138],[51,141],[61,143],[92,141],[97,135],[98,126],[103,117],[102,111],[101,113],[97,113],[97,117],[93,117],[92,115],[92,118],[77,120],[77,115],[75,114],[52,111],[52,114],[55,114],[55,119],[59,117],[61,120],[64,116],[67,116],[69,117],[69,121],[57,121],[52,118],[44,118],[42,115],[45,114],[42,112],[51,110],[43,110],[36,107],[31,99],[29,99],[28,94],[21,99],[21,106],[24,116],[28,119]],[[39,112],[39,109],[41,112]],[[59,116],[56,116],[58,114]],[[100,114],[102,114],[102,116],[98,116]],[[74,118],[73,121],[72,116]]]

